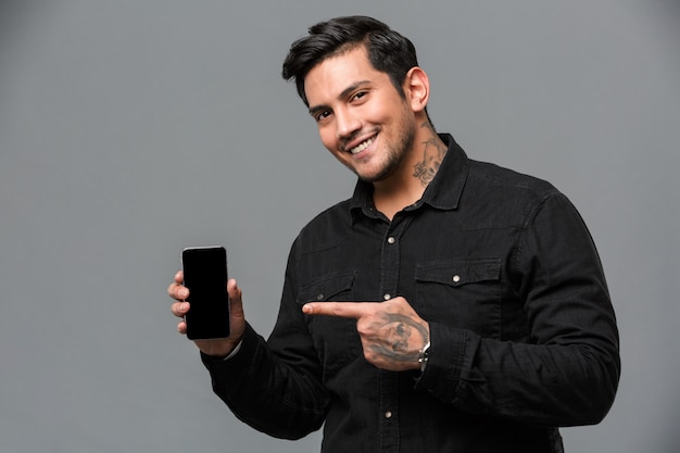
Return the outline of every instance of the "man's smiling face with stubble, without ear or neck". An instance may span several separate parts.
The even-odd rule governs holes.
[[[360,178],[381,181],[403,168],[414,112],[363,46],[314,66],[304,89],[322,142]]]

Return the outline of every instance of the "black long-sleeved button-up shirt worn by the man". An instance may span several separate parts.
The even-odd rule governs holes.
[[[391,222],[358,181],[302,229],[267,342],[249,327],[235,357],[203,357],[239,418],[290,439],[325,423],[327,453],[530,453],[562,451],[556,427],[607,413],[618,334],[578,212],[550,184],[441,138],[435,179]],[[355,320],[301,311],[396,295],[430,325],[423,374],[376,368]]]

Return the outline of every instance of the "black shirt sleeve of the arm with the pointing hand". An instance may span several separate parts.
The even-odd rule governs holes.
[[[476,414],[545,426],[599,423],[618,386],[618,331],[595,246],[566,197],[553,193],[537,206],[512,263],[529,341],[430,323],[429,362],[416,387]]]

